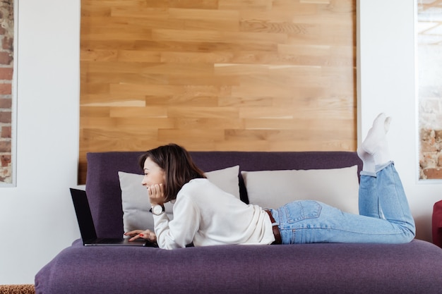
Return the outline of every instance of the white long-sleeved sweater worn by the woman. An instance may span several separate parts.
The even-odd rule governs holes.
[[[186,183],[175,201],[174,219],[153,216],[160,248],[223,244],[270,244],[275,240],[268,214],[245,204],[206,178]]]

